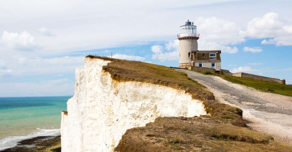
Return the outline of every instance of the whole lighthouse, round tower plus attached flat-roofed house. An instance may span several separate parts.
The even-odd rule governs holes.
[[[180,33],[177,34],[180,40],[179,67],[196,69],[196,67],[213,68],[219,71],[221,68],[220,50],[199,51],[197,26],[187,20],[185,25],[180,26]],[[197,68],[198,69],[198,68]]]

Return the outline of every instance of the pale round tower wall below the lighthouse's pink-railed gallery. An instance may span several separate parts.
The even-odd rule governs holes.
[[[191,63],[192,58],[188,57],[188,52],[192,53],[192,51],[198,50],[198,42],[197,39],[180,39],[180,61],[181,63]]]

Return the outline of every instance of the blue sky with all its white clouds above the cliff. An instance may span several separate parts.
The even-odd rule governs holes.
[[[194,22],[199,50],[221,68],[292,84],[292,1],[0,2],[0,96],[74,94],[87,55],[178,67],[180,26]]]

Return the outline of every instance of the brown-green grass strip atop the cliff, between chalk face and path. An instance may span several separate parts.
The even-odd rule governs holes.
[[[150,64],[140,61],[128,61],[101,56],[86,56],[112,61],[102,69],[111,74],[112,79],[119,82],[136,81],[160,84],[176,89],[184,89],[192,94],[193,99],[214,99],[213,93],[186,73],[175,71],[163,65]]]

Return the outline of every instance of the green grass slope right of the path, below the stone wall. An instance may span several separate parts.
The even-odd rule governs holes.
[[[284,96],[292,96],[291,85],[279,84],[276,82],[267,82],[267,81],[262,81],[262,80],[255,80],[255,79],[250,79],[250,78],[245,78],[245,77],[218,75],[212,72],[200,72],[200,71],[196,71],[196,72],[199,72],[204,75],[216,75],[216,76],[222,77],[223,79],[227,81],[237,83],[237,84],[242,84],[247,87],[252,87],[262,92],[270,92],[274,94],[281,94]]]

